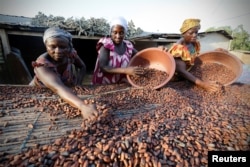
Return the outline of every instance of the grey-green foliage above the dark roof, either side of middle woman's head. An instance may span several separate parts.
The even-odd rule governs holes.
[[[32,25],[35,26],[45,26],[52,27],[57,26],[69,31],[74,31],[78,35],[84,36],[104,36],[109,34],[110,25],[108,21],[104,18],[90,18],[85,19],[84,17],[80,19],[76,18],[67,18],[61,16],[46,16],[42,12],[38,12],[38,14],[32,18]],[[133,37],[142,33],[143,30],[141,28],[135,27],[133,21],[128,22],[128,34],[127,38]]]

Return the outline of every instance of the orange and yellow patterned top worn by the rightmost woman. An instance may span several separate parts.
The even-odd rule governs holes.
[[[173,57],[180,57],[183,61],[186,62],[187,67],[194,65],[194,59],[200,53],[200,42],[197,41],[193,43],[193,47],[188,47],[182,44],[173,44],[173,46],[169,49],[169,53],[173,55]]]

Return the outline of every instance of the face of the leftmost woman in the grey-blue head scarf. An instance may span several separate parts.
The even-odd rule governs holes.
[[[64,38],[48,38],[45,43],[48,54],[55,61],[63,61],[70,51],[69,41]]]

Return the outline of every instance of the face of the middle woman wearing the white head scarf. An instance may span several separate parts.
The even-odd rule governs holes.
[[[115,25],[111,29],[111,39],[115,44],[120,44],[125,37],[125,30],[120,25]]]

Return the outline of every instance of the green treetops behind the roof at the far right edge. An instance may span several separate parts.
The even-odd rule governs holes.
[[[224,26],[218,28],[211,27],[207,29],[206,32],[218,31],[218,30],[225,30],[228,34],[230,34],[233,37],[230,46],[231,50],[250,51],[250,34],[248,34],[246,30],[244,30],[243,25],[238,25],[235,29],[232,29],[230,26]]]

